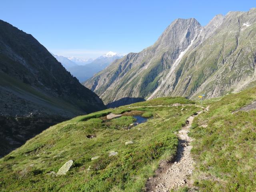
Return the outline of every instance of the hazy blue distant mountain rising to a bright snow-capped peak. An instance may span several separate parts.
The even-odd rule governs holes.
[[[96,58],[89,64],[73,66],[73,67],[67,68],[67,70],[73,76],[78,78],[80,82],[84,82],[85,80],[91,78],[97,72],[104,70],[104,68],[106,68],[114,60],[120,59],[120,58],[122,58],[121,55],[118,55],[117,53],[110,51],[107,54]]]

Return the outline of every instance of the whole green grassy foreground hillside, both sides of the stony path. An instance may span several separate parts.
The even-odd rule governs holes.
[[[51,126],[2,158],[0,175],[5,177],[1,178],[1,188],[6,191],[230,188],[253,191],[256,109],[239,109],[254,100],[256,89],[250,88],[205,100],[203,106],[181,97],[166,97],[78,116]],[[110,113],[122,116],[106,118]],[[149,119],[130,126],[136,120],[135,115]],[[187,138],[188,142],[181,142]],[[193,160],[182,160],[183,156],[185,159],[191,156]],[[73,166],[66,175],[55,175],[68,160],[73,161]],[[176,184],[170,178],[176,171],[174,166],[181,168]],[[190,173],[181,174],[187,166]],[[158,174],[165,170],[167,184],[156,182]],[[179,177],[185,182],[180,182]],[[152,188],[147,190],[146,183],[151,180]]]

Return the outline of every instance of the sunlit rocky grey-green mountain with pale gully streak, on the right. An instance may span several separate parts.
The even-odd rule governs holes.
[[[256,80],[255,35],[256,8],[217,15],[206,26],[194,18],[177,19],[154,45],[114,61],[84,85],[108,106],[237,92]]]

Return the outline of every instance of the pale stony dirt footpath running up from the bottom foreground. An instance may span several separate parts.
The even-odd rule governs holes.
[[[208,107],[198,112],[207,111]],[[196,115],[190,116],[186,120],[184,126],[178,134],[179,144],[177,156],[174,163],[162,161],[155,176],[148,179],[146,183],[147,192],[169,192],[170,189],[178,188],[180,186],[189,186],[187,176],[193,172],[193,159],[190,156],[192,146],[190,142],[192,138],[188,136],[189,129]]]

